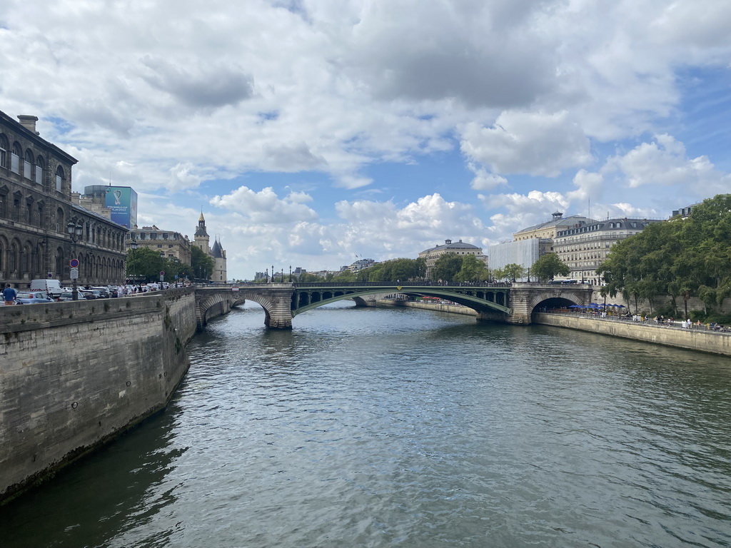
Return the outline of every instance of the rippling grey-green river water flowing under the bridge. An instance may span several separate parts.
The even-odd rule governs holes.
[[[0,509],[15,547],[728,547],[731,360],[332,305],[211,322],[163,414]]]

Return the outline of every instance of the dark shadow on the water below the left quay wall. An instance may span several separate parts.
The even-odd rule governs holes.
[[[168,410],[0,507],[0,546],[108,546],[162,511],[174,500],[172,490],[153,493],[185,452],[170,443],[174,402]],[[164,546],[172,533],[156,531],[154,546]]]

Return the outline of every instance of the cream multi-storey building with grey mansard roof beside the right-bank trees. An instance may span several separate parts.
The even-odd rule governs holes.
[[[596,274],[596,269],[607,259],[612,246],[659,222],[662,220],[627,217],[593,221],[556,232],[553,250],[571,270],[569,278],[599,284],[602,280]]]

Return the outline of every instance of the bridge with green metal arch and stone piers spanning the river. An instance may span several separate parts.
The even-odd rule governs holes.
[[[473,308],[477,319],[527,325],[535,311],[569,305],[588,305],[591,286],[496,283],[438,285],[429,282],[363,283],[245,283],[239,286],[197,286],[196,320],[199,329],[208,319],[227,313],[246,300],[264,308],[264,324],[271,329],[291,329],[300,313],[330,302],[352,299],[356,305],[374,304],[377,295],[405,294],[438,297]]]

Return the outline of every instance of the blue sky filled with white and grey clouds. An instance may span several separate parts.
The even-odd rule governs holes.
[[[0,110],[228,277],[731,192],[727,0],[4,0]]]

